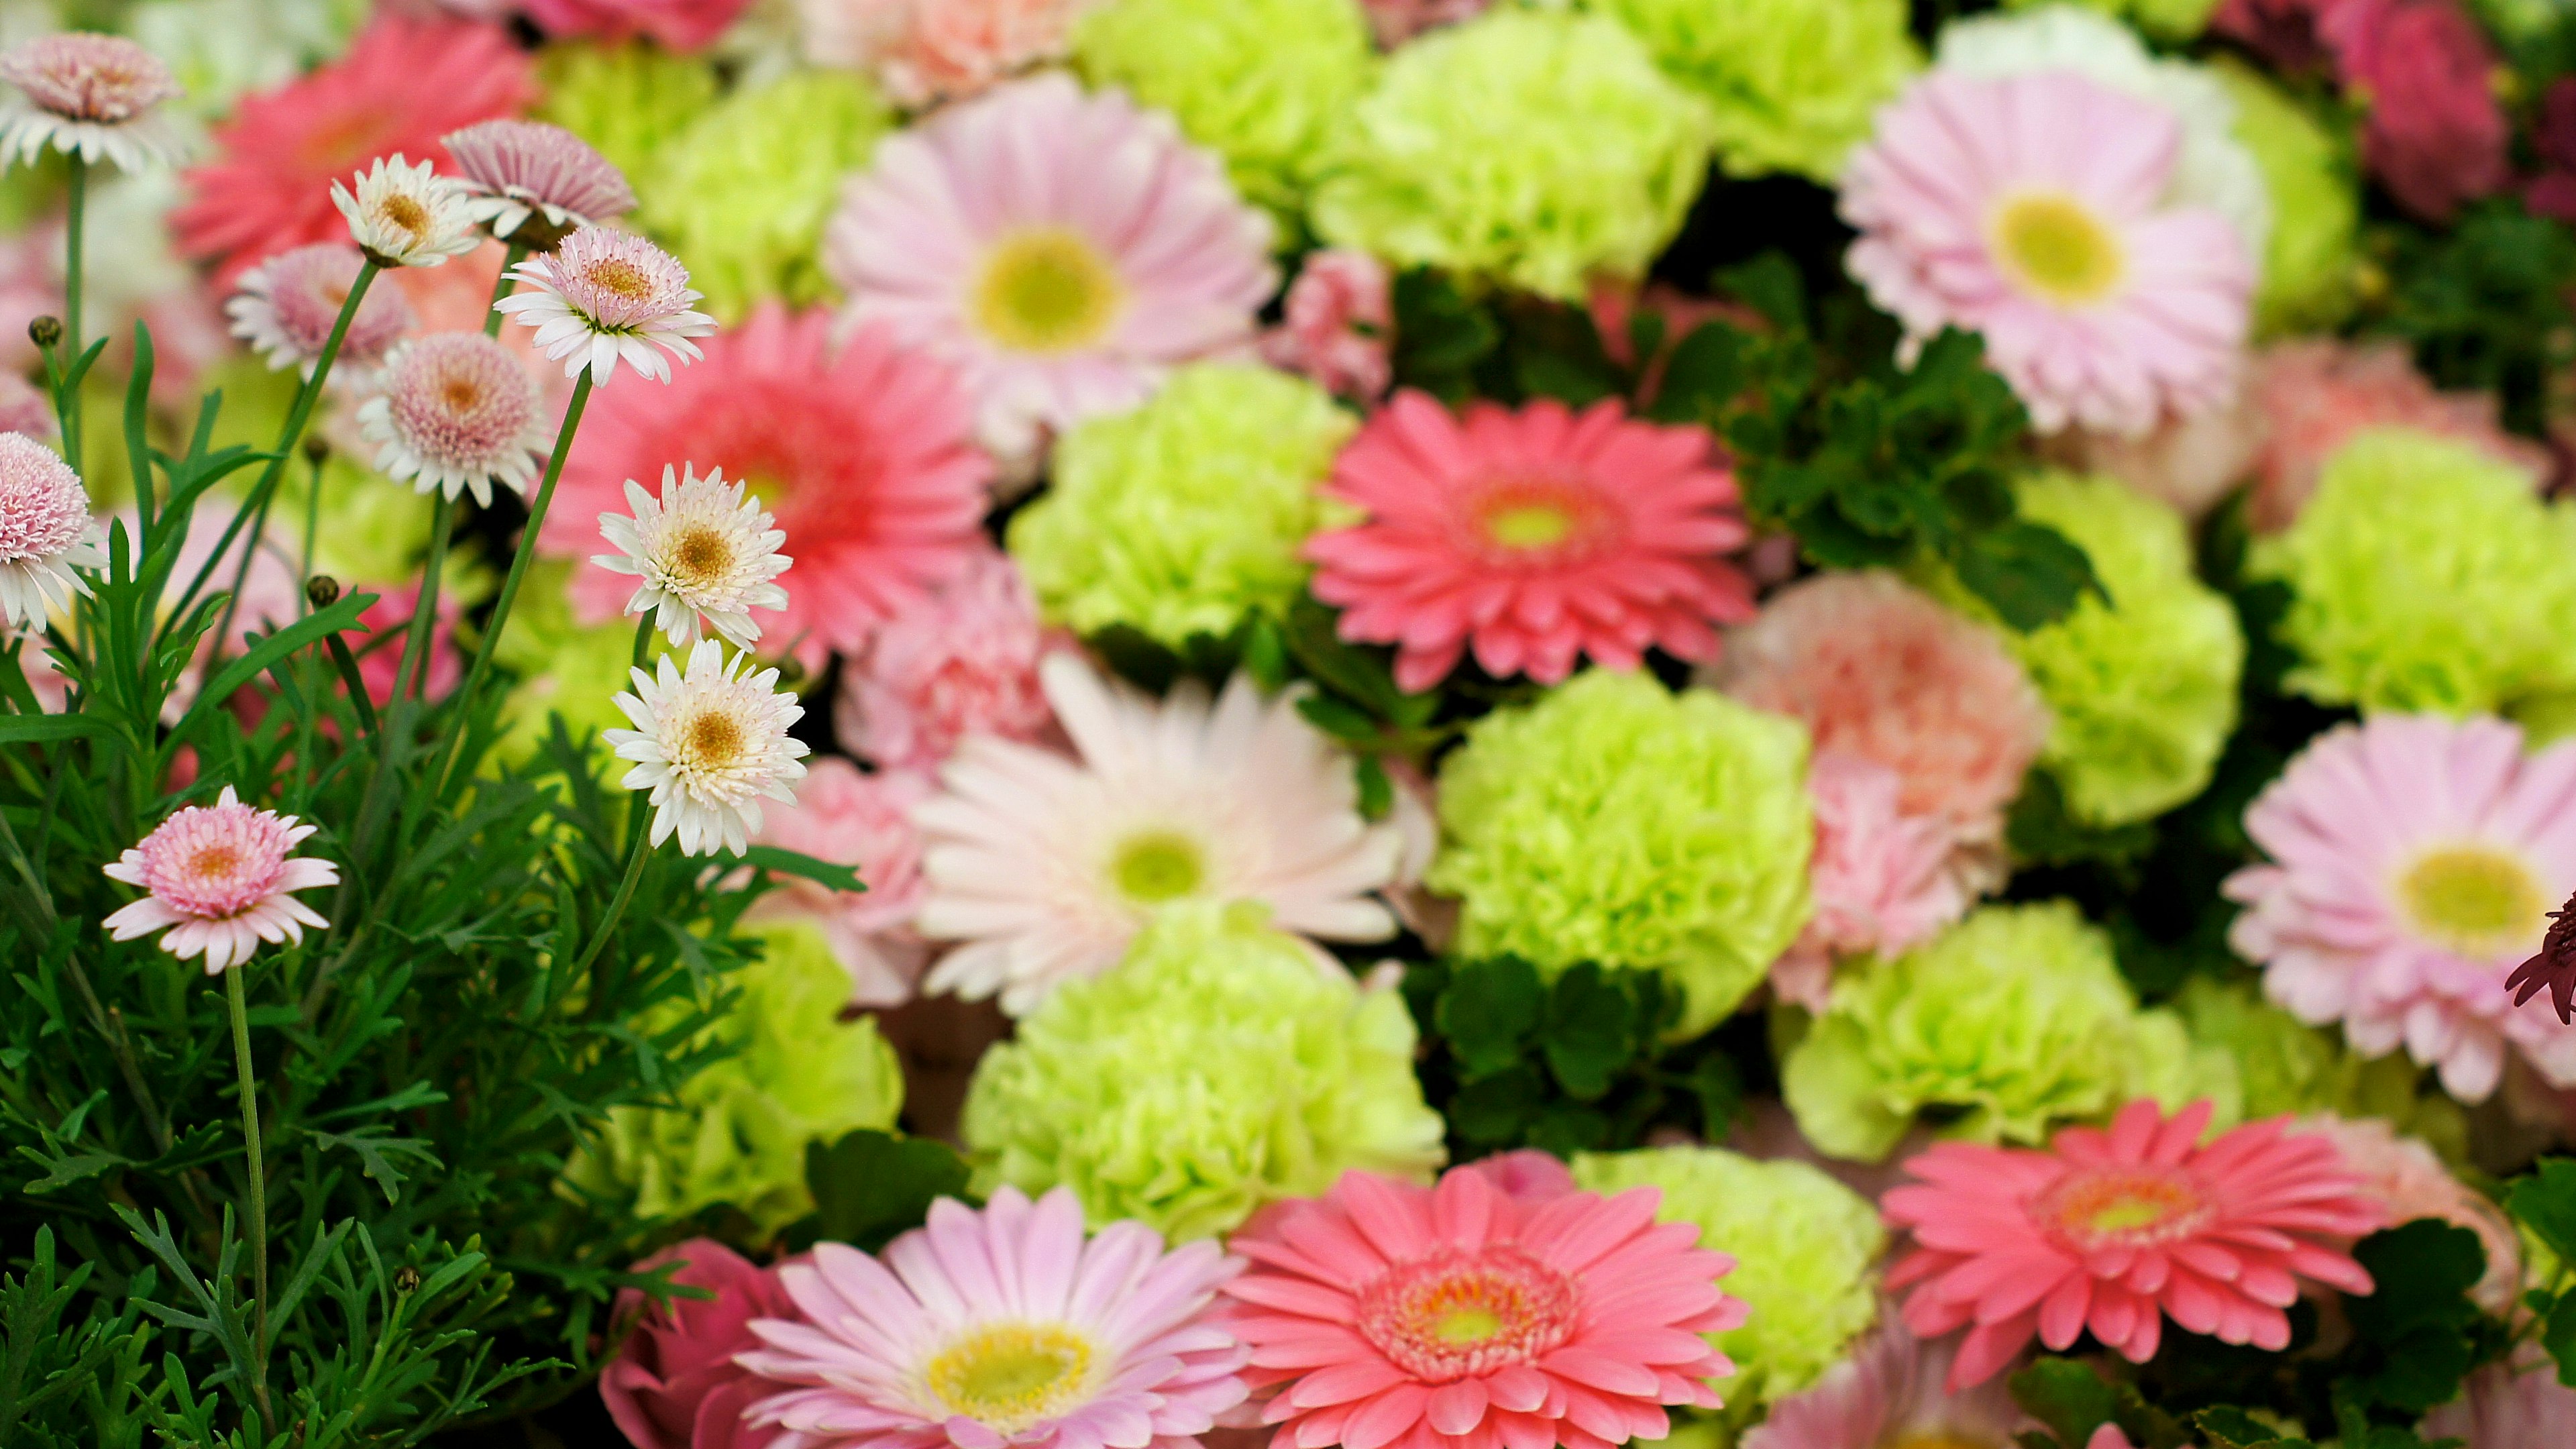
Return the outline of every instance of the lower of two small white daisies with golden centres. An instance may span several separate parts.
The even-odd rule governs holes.
[[[659,673],[629,670],[634,694],[618,709],[634,730],[611,730],[621,761],[634,761],[621,781],[652,789],[652,843],[680,835],[683,856],[744,853],[760,830],[760,799],[793,802],[788,781],[804,779],[804,740],[788,730],[804,719],[793,694],[778,691],[778,670],[742,673],[750,655],[724,655],[716,639],[698,639],[688,673],[662,655]]]

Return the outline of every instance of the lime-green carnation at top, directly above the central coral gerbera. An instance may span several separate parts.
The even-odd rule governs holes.
[[[1324,152],[1314,229],[1579,302],[1664,250],[1713,137],[1618,21],[1494,8],[1388,57]]]

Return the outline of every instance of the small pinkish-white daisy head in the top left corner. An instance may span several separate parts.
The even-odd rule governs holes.
[[[26,98],[0,121],[0,155],[33,162],[44,147],[121,170],[175,162],[185,142],[155,113],[180,93],[170,67],[124,36],[39,36],[0,54],[0,80]]]

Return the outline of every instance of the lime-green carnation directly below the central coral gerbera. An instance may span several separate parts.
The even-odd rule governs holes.
[[[1659,969],[1700,1034],[1806,926],[1806,730],[1595,668],[1468,730],[1440,830],[1461,957]]]

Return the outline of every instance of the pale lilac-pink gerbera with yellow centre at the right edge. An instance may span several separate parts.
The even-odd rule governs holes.
[[[2383,714],[2318,735],[2246,810],[2272,864],[2228,877],[2228,933],[2264,993],[2406,1052],[2483,1101],[2506,1047],[2576,1085],[2576,1026],[2514,1011],[2504,977],[2576,890],[2576,743],[2522,753],[2501,719]]]

